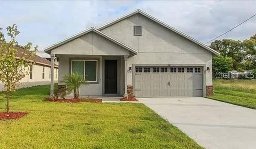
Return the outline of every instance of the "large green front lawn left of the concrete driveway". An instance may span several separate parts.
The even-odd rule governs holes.
[[[49,86],[19,89],[11,111],[18,120],[0,121],[0,148],[202,148],[141,103],[50,103]],[[5,111],[0,92],[0,112]]]

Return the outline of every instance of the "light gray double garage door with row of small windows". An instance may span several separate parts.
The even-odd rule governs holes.
[[[202,67],[135,67],[137,97],[202,97]]]

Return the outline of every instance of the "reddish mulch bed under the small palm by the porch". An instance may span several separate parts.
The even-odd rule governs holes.
[[[102,103],[102,99],[95,99],[95,98],[71,98],[71,99],[53,99],[53,98],[46,98],[44,101],[50,102],[61,102],[61,103],[78,103],[78,102],[89,102],[89,103]]]

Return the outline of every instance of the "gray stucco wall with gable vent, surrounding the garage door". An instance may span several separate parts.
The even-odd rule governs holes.
[[[133,35],[135,25],[142,26],[142,36]],[[212,85],[212,53],[141,14],[128,17],[101,32],[138,51],[137,55],[129,57],[127,69],[132,64],[204,64],[211,69],[211,72],[203,72],[204,86]],[[127,75],[127,85],[132,85],[132,73]]]

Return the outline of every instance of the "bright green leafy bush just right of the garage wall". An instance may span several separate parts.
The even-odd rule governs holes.
[[[223,57],[222,55],[215,56],[212,58],[212,71],[215,75],[216,72],[228,72],[232,71],[232,58]]]

